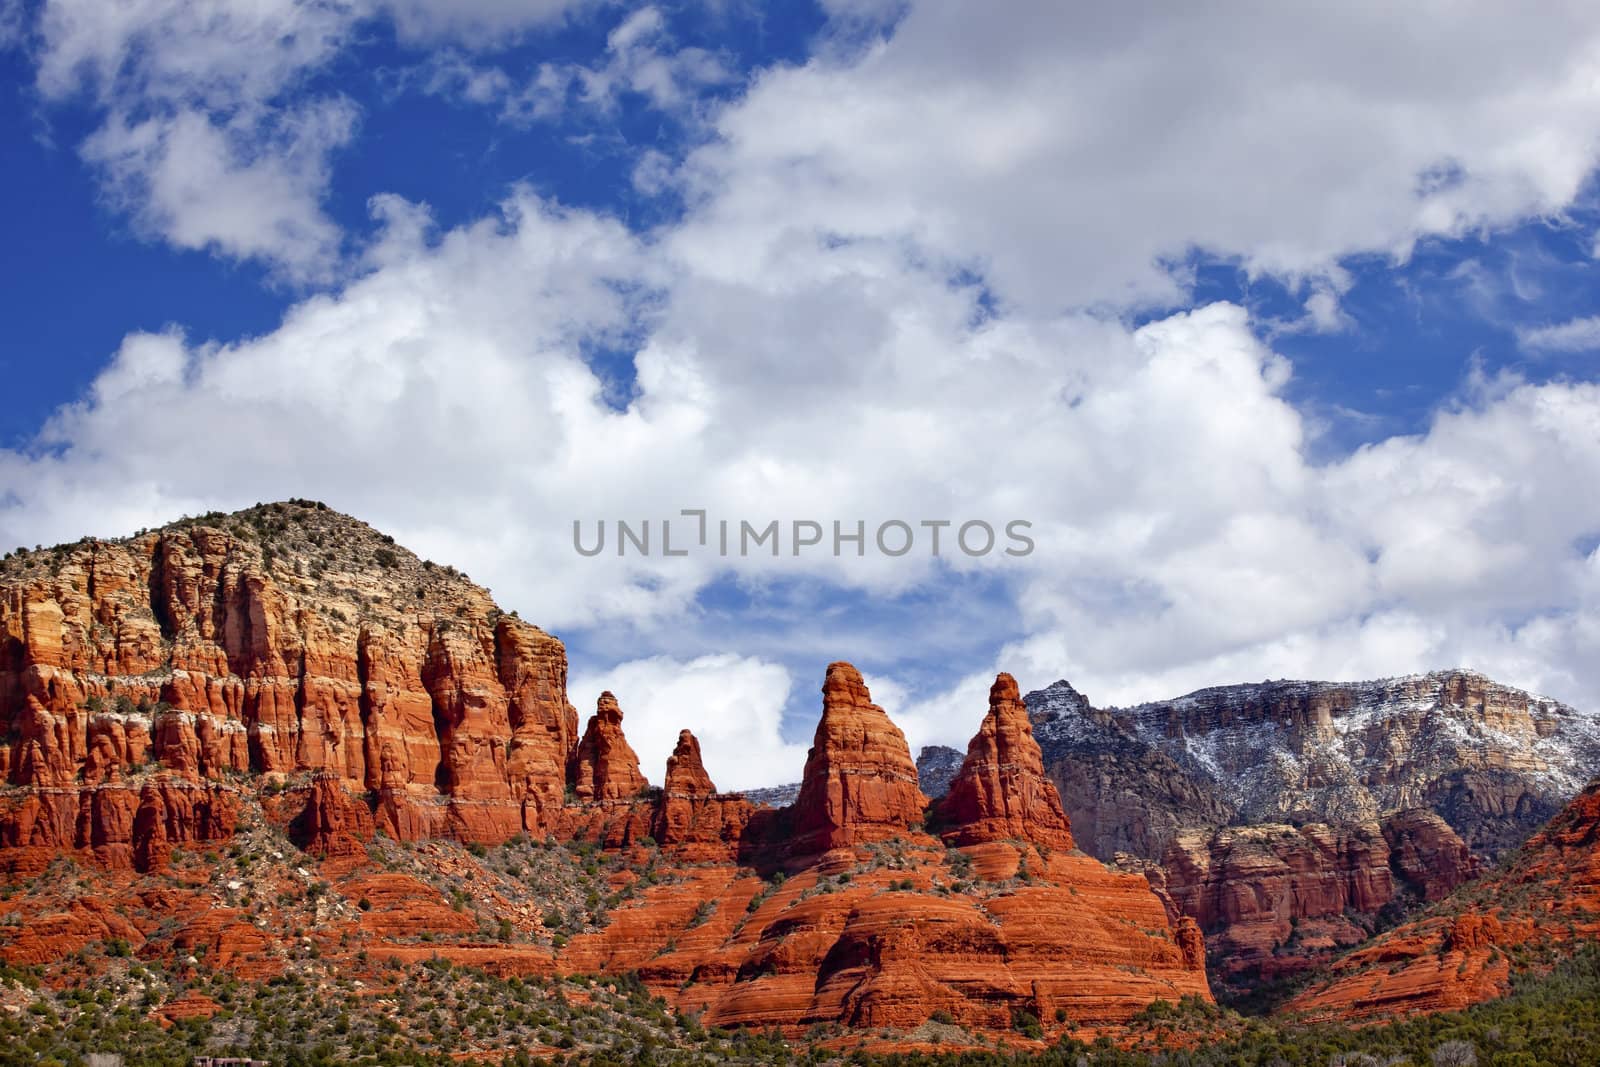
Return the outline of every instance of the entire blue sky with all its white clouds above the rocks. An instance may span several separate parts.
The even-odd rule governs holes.
[[[1600,701],[1600,19],[1155,11],[3,5],[0,541],[326,499],[731,785],[834,657]],[[682,507],[1038,550],[571,550]]]

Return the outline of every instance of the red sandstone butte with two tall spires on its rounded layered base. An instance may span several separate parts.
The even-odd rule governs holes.
[[[696,867],[688,885],[654,889],[574,939],[560,961],[638,971],[715,1025],[787,1032],[909,1030],[934,1014],[1006,1030],[1029,1013],[1059,1033],[1122,1024],[1155,998],[1208,1000],[1195,923],[1170,920],[1142,877],[1070,849],[1008,681],[970,747],[957,795],[973,803],[944,817],[957,848],[917,829],[904,739],[854,667],[832,664],[800,798],[768,824],[779,835],[806,827],[765,841],[792,870],[781,888]],[[662,814],[678,813],[669,825],[714,798],[691,734],[662,793]],[[749,832],[765,827],[752,819]]]

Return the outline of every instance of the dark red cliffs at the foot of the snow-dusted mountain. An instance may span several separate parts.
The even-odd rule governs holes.
[[[1213,974],[1243,987],[1360,944],[1381,915],[1438,899],[1475,870],[1443,819],[1403,813],[1382,825],[1182,833],[1163,857],[1160,888],[1205,931]]]

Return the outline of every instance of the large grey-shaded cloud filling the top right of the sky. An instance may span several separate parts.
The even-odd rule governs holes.
[[[894,237],[1038,309],[1173,299],[1200,246],[1315,274],[1571,203],[1600,16],[1354,3],[910,5],[861,56],[766,72],[691,171],[733,274],[787,234]]]

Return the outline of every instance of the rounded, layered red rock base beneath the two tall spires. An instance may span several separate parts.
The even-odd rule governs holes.
[[[880,864],[870,849],[837,849],[776,891],[736,869],[686,869],[574,937],[558,965],[637,971],[706,1022],[790,1033],[910,1030],[936,1013],[1003,1032],[1018,1011],[1059,1033],[1125,1022],[1155,998],[1210,998],[1198,929],[1168,925],[1138,877],[990,843],[960,862],[995,885],[950,893],[952,853],[934,838],[912,835],[888,854]],[[1019,870],[1027,885],[1014,883]]]

